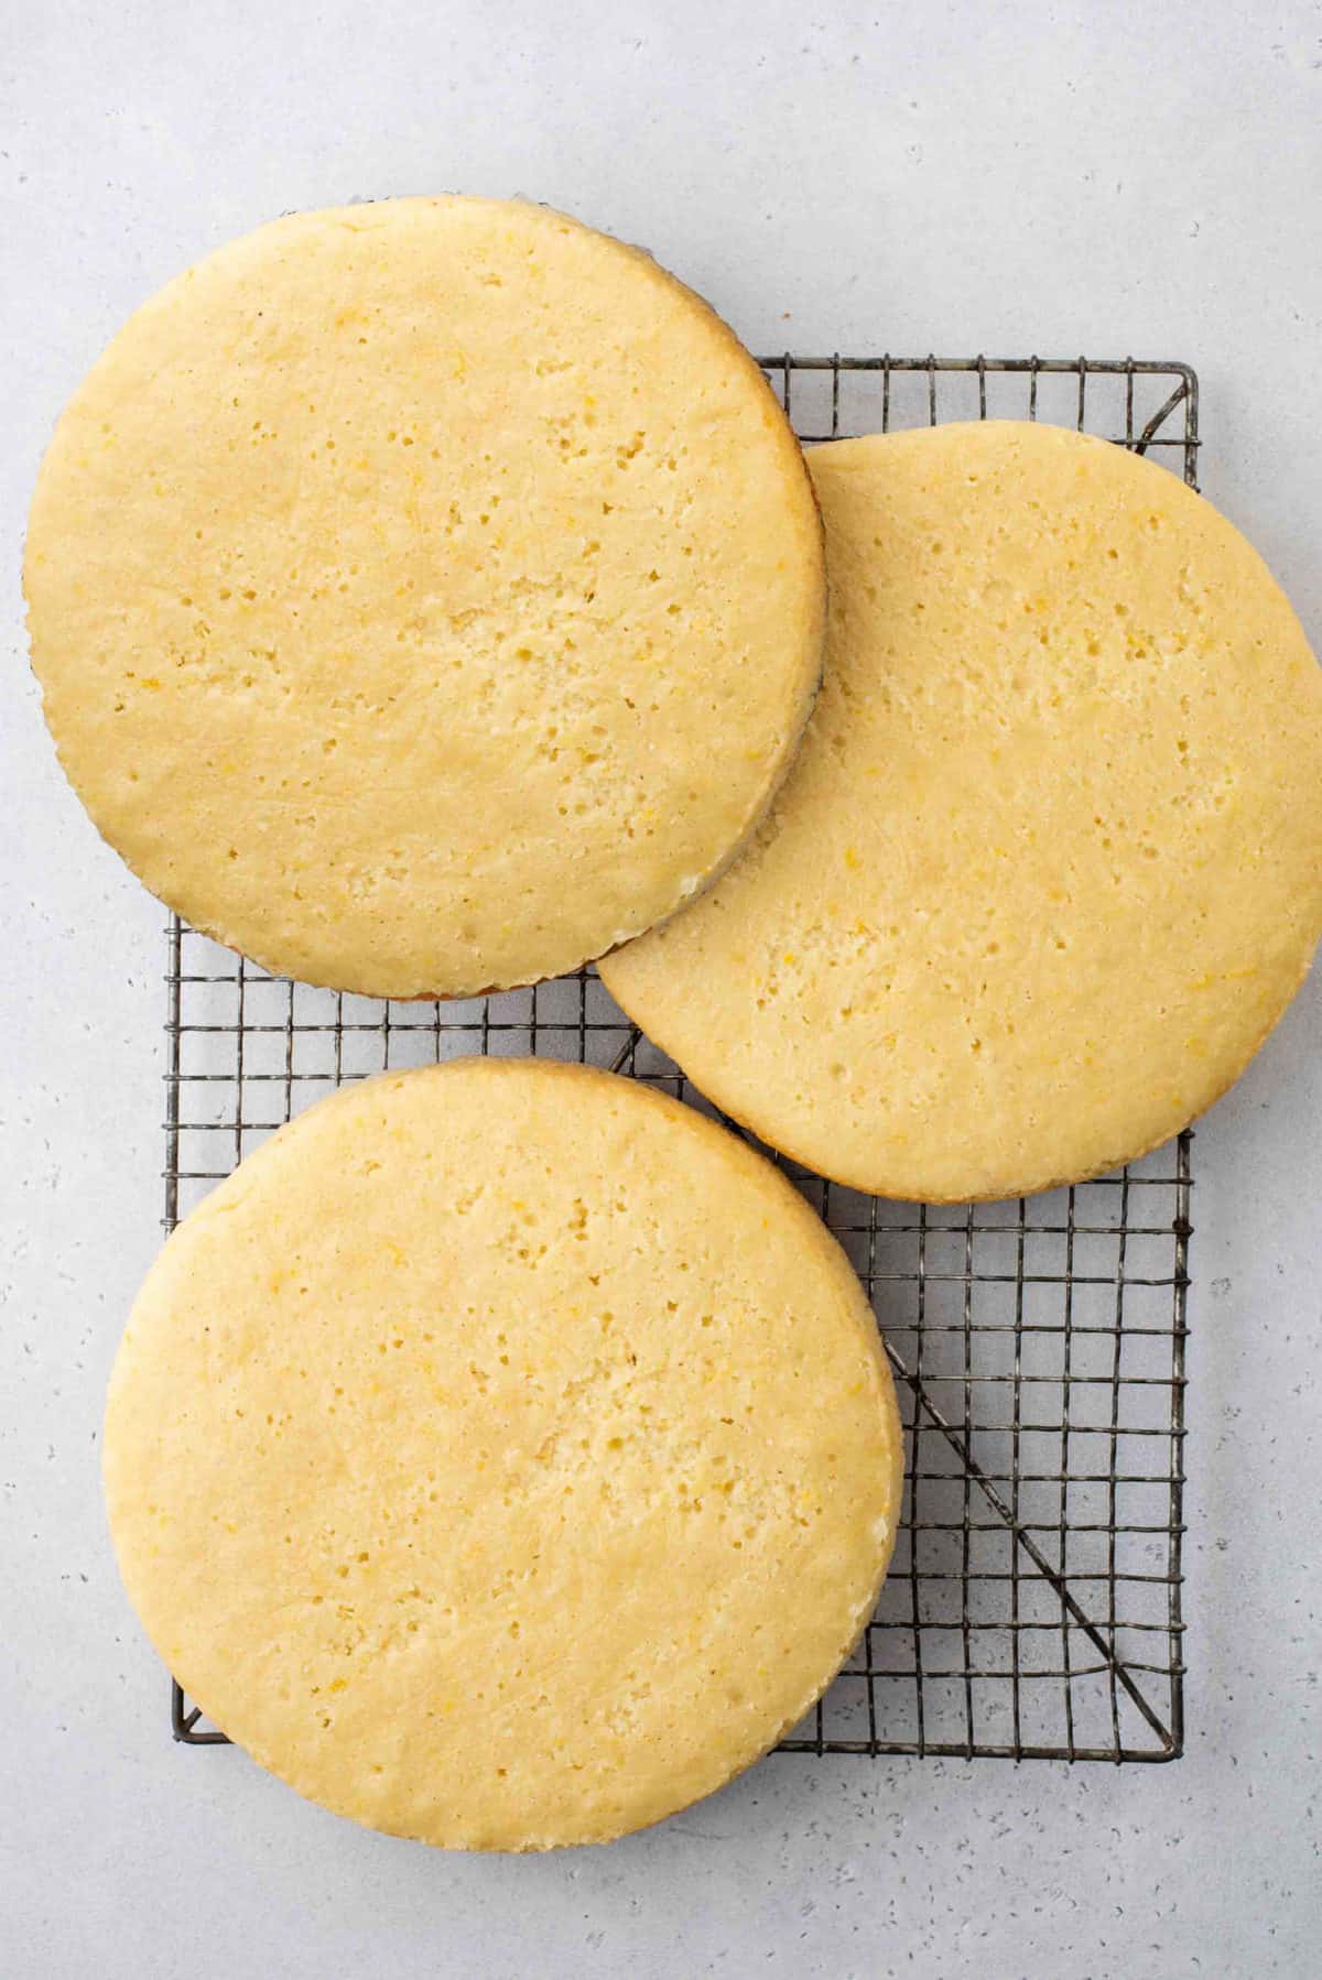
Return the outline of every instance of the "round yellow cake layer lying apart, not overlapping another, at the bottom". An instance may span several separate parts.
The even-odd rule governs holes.
[[[105,1422],[188,1695],[301,1794],[472,1849],[605,1841],[755,1760],[872,1614],[900,1463],[791,1184],[549,1061],[275,1135],[165,1245]]]

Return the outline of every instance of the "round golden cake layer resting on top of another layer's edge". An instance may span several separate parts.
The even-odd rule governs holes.
[[[61,762],[194,927],[377,996],[577,968],[763,816],[821,525],[735,337],[525,202],[234,242],[65,410],[24,572]]]

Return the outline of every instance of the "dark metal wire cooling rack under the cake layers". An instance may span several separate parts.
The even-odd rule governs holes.
[[[1197,378],[1088,358],[763,358],[805,442],[1041,418],[1195,485]],[[283,982],[170,923],[166,1228],[345,1079],[482,1051],[606,1065],[712,1111],[595,970],[466,1004]],[[926,1208],[785,1164],[862,1275],[910,1453],[876,1618],[785,1752],[1183,1750],[1189,1135],[1100,1182]],[[224,1744],[172,1689],[172,1731]]]

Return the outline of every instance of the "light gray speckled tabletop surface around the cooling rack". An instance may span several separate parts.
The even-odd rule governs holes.
[[[18,541],[61,400],[186,261],[521,190],[757,348],[1189,358],[1205,489],[1322,644],[1322,12],[18,0],[2,42],[0,1972],[1316,1972],[1318,980],[1195,1148],[1181,1764],[773,1758],[606,1851],[470,1861],[170,1746],[97,1489],[159,1238],[163,915],[55,770]]]

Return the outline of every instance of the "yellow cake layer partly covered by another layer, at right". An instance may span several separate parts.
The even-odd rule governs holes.
[[[1261,558],[1122,447],[809,455],[826,673],[751,849],[603,964],[725,1113],[882,1196],[1100,1174],[1243,1071],[1322,931],[1322,671]]]

